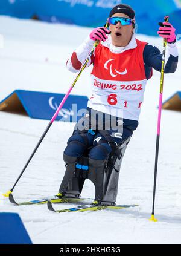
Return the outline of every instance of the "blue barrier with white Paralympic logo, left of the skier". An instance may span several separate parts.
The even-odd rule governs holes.
[[[15,90],[0,102],[0,111],[28,114],[36,119],[51,120],[65,94]],[[56,120],[77,122],[87,108],[87,97],[69,95]]]

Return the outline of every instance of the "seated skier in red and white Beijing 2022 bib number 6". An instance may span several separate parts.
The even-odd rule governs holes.
[[[138,127],[145,86],[152,76],[152,68],[161,71],[162,67],[159,49],[136,39],[135,11],[129,5],[116,5],[110,11],[107,25],[109,29],[98,27],[92,30],[66,64],[69,71],[80,71],[95,41],[100,41],[87,64],[87,67],[93,64],[90,75],[92,96],[87,104],[87,113],[75,125],[65,148],[63,159],[67,170],[59,194],[76,194],[74,182],[69,183],[72,176],[76,178],[75,169],[89,171],[91,177],[87,177],[94,182],[95,188],[102,186],[101,192],[97,190],[95,195],[99,203],[109,201],[104,200],[105,189],[101,180],[104,175],[97,178],[93,176],[103,174],[107,160],[110,156],[113,158],[116,148],[129,142]],[[178,62],[175,29],[169,22],[160,22],[157,33],[167,38],[168,42],[165,73],[174,73]],[[112,119],[113,122],[110,122]],[[80,179],[76,184],[81,188],[83,186],[83,183],[80,185]],[[81,189],[77,191],[79,195]],[[115,203],[115,198],[114,195],[110,202]]]

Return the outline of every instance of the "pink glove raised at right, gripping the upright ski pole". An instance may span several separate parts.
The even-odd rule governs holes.
[[[162,38],[167,38],[168,43],[176,41],[175,28],[169,22],[159,22],[160,28],[157,34]]]

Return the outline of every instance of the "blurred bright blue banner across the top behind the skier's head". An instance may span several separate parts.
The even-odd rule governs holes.
[[[181,31],[181,0],[1,0],[0,15],[48,22],[65,22],[86,27],[104,25],[116,4],[129,4],[136,11],[138,33],[156,36],[157,22],[165,15]]]

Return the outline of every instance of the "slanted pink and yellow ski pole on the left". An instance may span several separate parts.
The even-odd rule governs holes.
[[[83,65],[81,67],[81,70],[78,72],[77,76],[75,77],[74,82],[72,83],[72,85],[69,88],[68,92],[63,97],[62,102],[60,103],[59,107],[57,108],[56,112],[54,113],[54,116],[52,117],[51,121],[49,122],[48,126],[46,127],[46,130],[43,132],[42,136],[40,137],[39,142],[37,143],[36,147],[33,150],[33,153],[31,154],[31,156],[29,157],[27,163],[25,164],[24,168],[22,169],[21,174],[19,175],[19,177],[17,178],[16,182],[14,183],[13,188],[11,188],[10,191],[7,191],[5,194],[3,194],[5,197],[8,197],[9,194],[11,194],[13,192],[13,189],[15,188],[17,182],[19,182],[19,179],[21,178],[22,174],[24,173],[25,169],[27,168],[28,164],[30,163],[31,159],[33,158],[34,154],[36,153],[37,149],[39,148],[40,144],[42,143],[42,140],[45,138],[46,133],[48,133],[49,128],[51,127],[52,123],[54,122],[54,120],[58,116],[59,111],[63,107],[63,104],[66,102],[66,99],[68,98],[69,94],[71,93],[72,88],[76,84],[76,82],[77,82],[78,78],[80,77],[81,73],[83,72],[84,68],[86,68],[87,62],[89,61],[90,57],[94,53],[95,48],[97,47],[97,45],[99,43],[100,43],[99,40],[95,41],[95,43],[94,43],[94,45],[93,45],[89,55],[87,56],[87,59],[84,61]]]

